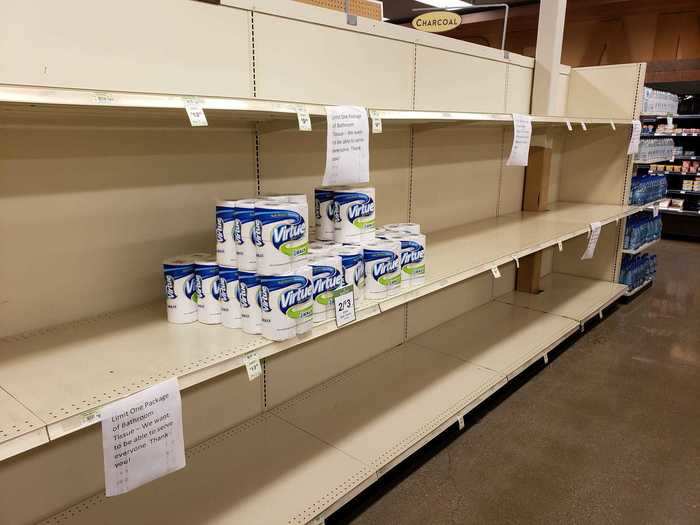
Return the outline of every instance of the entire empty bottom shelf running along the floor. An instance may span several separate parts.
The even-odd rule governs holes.
[[[559,279],[563,304],[596,291],[595,301],[583,294],[580,311],[617,290]],[[564,291],[574,297],[565,301]],[[93,496],[46,523],[320,521],[578,327],[492,301],[190,449],[181,471],[123,496]]]

